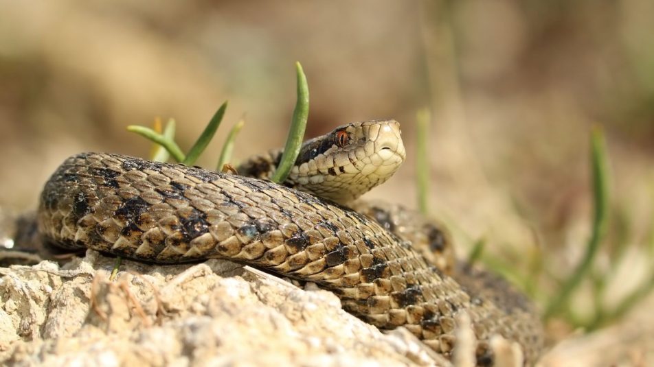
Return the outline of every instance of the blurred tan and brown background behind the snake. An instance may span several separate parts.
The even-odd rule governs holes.
[[[522,267],[537,248],[555,254],[549,272],[569,271],[590,232],[589,132],[601,127],[611,222],[598,269],[613,261],[611,246],[629,245],[624,269],[611,265],[627,278],[608,285],[607,302],[646,279],[652,1],[2,0],[0,14],[5,208],[34,207],[71,154],[148,156],[150,144],[126,132],[131,124],[174,117],[188,149],[226,99],[201,165],[215,165],[241,118],[236,160],[282,146],[297,60],[311,91],[308,136],[349,121],[400,121],[407,163],[370,197],[416,206],[416,111],[431,110],[429,204],[463,256],[484,241]],[[577,297],[581,313],[589,297]]]

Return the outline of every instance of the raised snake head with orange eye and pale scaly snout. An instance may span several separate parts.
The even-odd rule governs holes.
[[[385,182],[405,158],[397,121],[348,123],[306,141],[286,181],[302,191],[347,203]]]

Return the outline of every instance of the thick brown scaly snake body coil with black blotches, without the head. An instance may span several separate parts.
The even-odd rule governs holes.
[[[78,154],[45,184],[38,226],[66,248],[157,263],[229,259],[313,281],[362,320],[406,327],[444,355],[465,310],[480,365],[493,363],[488,338],[496,333],[519,342],[527,363],[541,350],[541,325],[528,306],[467,292],[376,221],[266,180]]]

